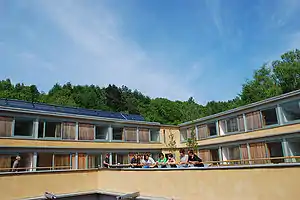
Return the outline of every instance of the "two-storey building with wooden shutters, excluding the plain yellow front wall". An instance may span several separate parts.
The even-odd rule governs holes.
[[[122,113],[0,100],[0,169],[17,155],[24,170],[91,169],[127,164],[134,153],[186,148],[194,132],[198,154],[212,164],[299,162],[300,90],[178,126]],[[172,137],[171,137],[172,136]],[[178,154],[177,154],[178,157]]]

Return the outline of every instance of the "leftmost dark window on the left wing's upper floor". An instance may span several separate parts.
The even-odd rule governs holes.
[[[16,136],[32,136],[33,133],[33,120],[32,119],[15,119],[15,132]]]

